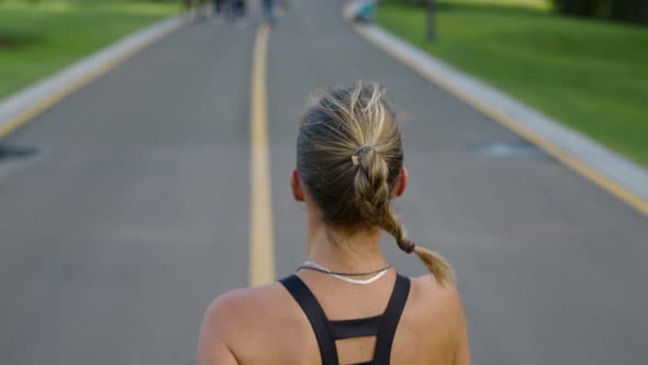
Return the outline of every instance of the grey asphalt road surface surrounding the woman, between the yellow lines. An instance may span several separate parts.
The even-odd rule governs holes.
[[[396,209],[454,263],[473,362],[644,363],[646,217],[551,157],[483,154],[528,146],[354,33],[339,1],[292,5],[266,65],[277,277],[304,254],[288,176],[305,96],[378,80],[404,121]],[[248,284],[256,31],[185,26],[2,141],[38,153],[0,162],[0,363],[194,362],[204,307]]]

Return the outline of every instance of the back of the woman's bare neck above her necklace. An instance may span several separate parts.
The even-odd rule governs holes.
[[[322,221],[309,221],[309,261],[343,273],[372,272],[387,266],[380,251],[380,230],[348,233]]]

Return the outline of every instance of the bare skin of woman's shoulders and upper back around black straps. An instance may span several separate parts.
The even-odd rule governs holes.
[[[364,287],[321,274],[303,276],[333,320],[380,314],[391,295],[394,277],[392,274],[389,279],[386,276],[380,283]],[[336,290],[331,290],[333,286]],[[362,292],[362,289],[368,290]],[[371,298],[368,292],[372,294]],[[353,346],[344,349],[354,351]],[[230,291],[214,300],[204,317],[198,355],[199,365],[321,363],[317,342],[305,314],[279,283]],[[340,360],[344,355],[340,354]],[[463,309],[457,290],[449,285],[440,286],[431,275],[413,278],[394,335],[391,363],[468,365],[469,357]]]

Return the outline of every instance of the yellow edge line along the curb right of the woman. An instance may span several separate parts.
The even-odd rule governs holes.
[[[526,128],[522,126],[521,124],[516,123],[512,118],[509,115],[500,112],[493,107],[490,107],[487,103],[481,102],[479,99],[473,98],[472,96],[463,92],[461,89],[457,88],[456,86],[447,82],[443,78],[434,75],[433,73],[428,71],[427,69],[423,68],[422,66],[417,65],[414,60],[409,58],[403,54],[399,54],[393,52],[389,46],[382,44],[380,41],[373,40],[371,36],[365,34],[361,30],[356,27],[356,31],[362,34],[370,43],[375,46],[379,47],[380,49],[384,51],[386,53],[390,54],[398,60],[405,64],[411,69],[415,70],[421,75],[423,78],[432,81],[440,86],[446,91],[450,92],[451,95],[458,97],[459,99],[463,100],[466,103],[470,104],[472,108],[479,110],[483,114],[490,117],[492,120],[496,121],[498,123],[504,125],[509,130],[513,131],[514,133],[521,135],[522,137],[528,140],[529,142],[534,143],[538,147],[543,148],[549,155],[554,156],[558,161],[560,161],[563,165],[570,167],[571,169],[576,170],[580,175],[588,178],[590,181],[594,182],[595,185],[600,186],[601,188],[607,190],[612,195],[616,196],[618,199],[627,203],[628,206],[635,208],[639,212],[644,213],[648,217],[648,201],[640,196],[632,192],[623,185],[616,182],[615,180],[611,179],[610,177],[599,173],[596,169],[590,167],[582,161],[576,158],[571,154],[565,152],[562,148],[558,147],[554,143],[540,137],[539,135],[535,134],[534,132],[527,130]]]

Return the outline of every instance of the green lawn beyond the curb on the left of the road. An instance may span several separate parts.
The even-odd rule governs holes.
[[[178,12],[178,2],[0,0],[0,98]]]

